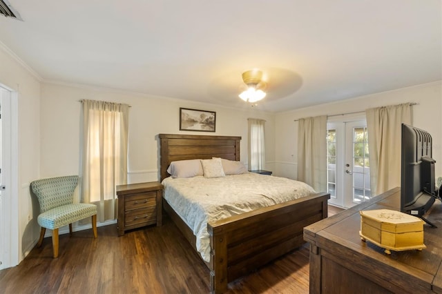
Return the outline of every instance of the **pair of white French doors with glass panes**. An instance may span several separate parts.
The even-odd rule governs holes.
[[[329,203],[345,208],[372,197],[365,120],[327,124]]]

